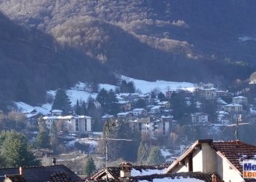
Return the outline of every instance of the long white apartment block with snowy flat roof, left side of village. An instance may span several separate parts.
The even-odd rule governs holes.
[[[44,116],[45,126],[50,130],[53,122],[63,126],[57,128],[59,130],[66,130],[69,133],[86,133],[91,131],[91,117],[89,116]]]

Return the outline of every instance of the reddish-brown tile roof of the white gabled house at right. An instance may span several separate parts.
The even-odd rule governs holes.
[[[241,173],[243,172],[241,162],[244,159],[255,159],[256,155],[256,146],[241,141],[214,141],[211,146],[226,157]]]

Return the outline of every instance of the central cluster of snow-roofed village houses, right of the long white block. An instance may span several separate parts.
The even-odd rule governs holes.
[[[171,128],[176,124],[171,115],[170,102],[151,98],[150,94],[120,93],[116,95],[118,105],[123,112],[116,115],[105,115],[101,118],[104,124],[108,119],[128,121],[132,130],[141,134],[169,135]],[[146,103],[144,108],[132,108],[132,103],[138,100]]]

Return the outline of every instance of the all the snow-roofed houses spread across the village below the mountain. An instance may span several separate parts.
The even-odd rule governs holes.
[[[82,85],[83,86],[83,85]],[[253,122],[256,117],[253,112],[248,111],[248,100],[244,96],[233,97],[233,93],[228,91],[219,90],[214,88],[213,84],[198,84],[199,87],[194,92],[183,91],[184,98],[189,105],[191,98],[195,98],[197,112],[189,114],[189,123],[194,126],[209,125],[217,123],[222,126],[233,124],[236,122],[238,116],[243,115],[243,119],[248,119]],[[178,91],[176,91],[178,92]],[[169,135],[173,128],[176,126],[176,120],[173,119],[170,97],[173,91],[165,92],[165,100],[160,101],[157,97],[152,98],[150,93],[119,93],[116,94],[120,113],[116,115],[102,116],[102,127],[108,119],[119,119],[129,121],[132,130],[139,130],[142,134],[149,135]],[[226,103],[225,98],[232,98],[232,103]],[[217,105],[217,113],[212,121],[208,113],[202,111],[202,99],[215,102]],[[146,104],[143,108],[135,108],[138,100],[143,100]],[[255,100],[256,103],[256,100]],[[97,108],[100,107],[99,103]],[[215,106],[215,105],[214,105]],[[256,105],[255,105],[256,106]],[[253,111],[253,110],[252,110]],[[28,127],[36,125],[39,118],[45,121],[46,127],[50,129],[53,122],[62,123],[62,130],[67,133],[89,133],[92,132],[92,119],[89,116],[62,116],[61,111],[51,111],[50,114],[42,114],[36,110],[27,111]],[[256,113],[256,111],[255,111]],[[211,117],[213,118],[213,117]],[[59,124],[60,125],[60,124]]]

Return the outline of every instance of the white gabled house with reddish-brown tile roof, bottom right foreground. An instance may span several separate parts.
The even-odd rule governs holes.
[[[165,174],[214,173],[223,181],[246,181],[242,177],[244,159],[254,159],[256,146],[242,141],[198,140],[184,152]]]

